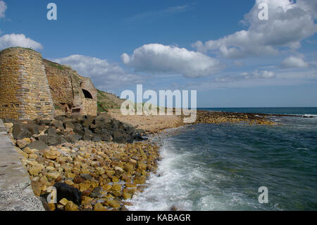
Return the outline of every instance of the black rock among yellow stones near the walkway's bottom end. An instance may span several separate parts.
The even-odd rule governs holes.
[[[57,191],[57,202],[66,198],[69,201],[74,202],[76,205],[82,203],[82,193],[72,186],[68,186],[66,183],[55,183],[54,187]]]

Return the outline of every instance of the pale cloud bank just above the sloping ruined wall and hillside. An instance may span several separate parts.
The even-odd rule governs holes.
[[[116,63],[108,63],[106,59],[91,56],[71,55],[61,59],[53,59],[56,63],[71,66],[78,74],[92,78],[97,88],[114,90],[124,85],[140,82],[141,77],[126,72]]]

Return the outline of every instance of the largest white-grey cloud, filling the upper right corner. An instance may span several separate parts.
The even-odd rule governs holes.
[[[260,3],[268,4],[268,20],[259,19]],[[315,0],[256,0],[242,21],[249,26],[247,30],[205,43],[198,41],[192,47],[226,58],[278,54],[278,47],[297,49],[302,39],[317,32],[316,8]]]

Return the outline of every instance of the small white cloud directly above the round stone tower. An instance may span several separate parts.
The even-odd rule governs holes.
[[[42,49],[42,44],[39,42],[35,42],[29,37],[25,37],[25,35],[3,35],[0,37],[0,49],[6,49],[9,47],[25,47],[32,48],[35,50]]]

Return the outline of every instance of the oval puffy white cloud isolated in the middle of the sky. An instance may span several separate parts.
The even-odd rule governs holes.
[[[163,44],[144,44],[132,56],[122,54],[121,59],[137,72],[182,74],[187,78],[213,75],[223,68],[205,54]]]

